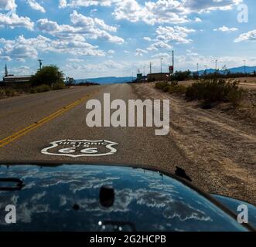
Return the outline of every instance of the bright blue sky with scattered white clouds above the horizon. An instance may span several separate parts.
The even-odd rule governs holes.
[[[254,0],[0,0],[0,75],[84,79],[256,66]]]

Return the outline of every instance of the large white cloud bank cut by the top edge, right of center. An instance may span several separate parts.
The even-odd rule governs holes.
[[[130,22],[155,23],[185,23],[190,22],[188,15],[211,10],[227,10],[242,0],[157,0],[148,1],[144,5],[137,0],[117,2],[114,9],[115,19],[127,19]],[[194,19],[200,22],[199,18]]]

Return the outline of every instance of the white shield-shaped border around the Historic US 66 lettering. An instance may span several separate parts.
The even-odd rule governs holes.
[[[53,153],[49,153],[49,149],[52,149],[54,147],[58,147],[60,142],[64,142],[64,141],[70,141],[70,142],[107,142],[108,144],[106,145],[106,147],[108,149],[110,149],[110,151],[108,153],[105,154],[78,154],[78,155],[74,155],[74,154],[53,154]],[[104,155],[111,155],[117,152],[117,150],[112,147],[113,145],[118,145],[118,143],[110,141],[110,140],[70,140],[70,139],[66,139],[66,140],[56,140],[53,142],[50,142],[49,144],[52,144],[51,147],[46,147],[44,148],[41,153],[42,154],[46,154],[46,155],[56,155],[56,156],[69,156],[69,157],[83,157],[83,156],[104,156]]]

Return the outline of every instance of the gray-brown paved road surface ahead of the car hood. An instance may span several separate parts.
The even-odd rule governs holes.
[[[86,115],[89,111],[85,107],[86,101],[94,98],[102,102],[103,93],[111,93],[111,100],[138,98],[130,85],[115,84],[0,100],[0,161],[149,164],[165,167],[169,171],[173,171],[176,165],[183,167],[186,164],[186,158],[171,137],[155,136],[155,127],[87,127]],[[118,143],[113,146],[117,152],[101,157],[41,153],[51,146],[50,142],[66,139],[110,140]]]

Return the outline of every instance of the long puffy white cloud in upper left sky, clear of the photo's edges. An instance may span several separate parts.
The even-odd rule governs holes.
[[[79,34],[87,39],[102,39],[118,44],[125,42],[124,39],[111,35],[109,32],[116,32],[117,28],[107,25],[102,19],[90,18],[74,11],[70,15],[70,21],[72,25],[59,25],[48,19],[39,19],[37,27],[40,31],[57,37],[72,37]]]

